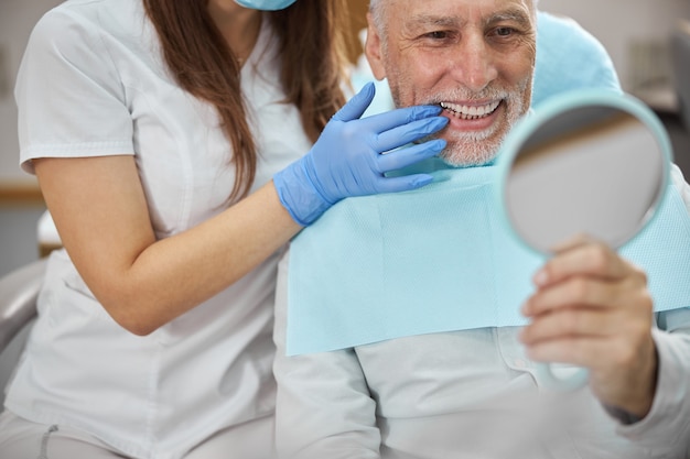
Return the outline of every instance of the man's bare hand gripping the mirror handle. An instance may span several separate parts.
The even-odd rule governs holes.
[[[529,358],[585,367],[601,403],[646,416],[657,378],[646,274],[606,245],[580,239],[559,249],[533,282],[522,307],[531,319],[521,332]]]

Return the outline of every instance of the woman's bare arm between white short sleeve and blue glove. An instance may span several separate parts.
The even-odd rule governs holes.
[[[197,227],[158,241],[133,156],[33,163],[77,271],[110,316],[137,335],[226,288],[301,229],[269,183]]]

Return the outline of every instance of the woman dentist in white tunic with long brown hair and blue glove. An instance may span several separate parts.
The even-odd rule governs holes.
[[[15,89],[20,161],[64,249],[0,457],[271,456],[283,247],[345,197],[429,183],[384,173],[445,145],[380,154],[448,120],[359,119],[370,85],[345,105],[344,8],[67,0],[41,19]]]

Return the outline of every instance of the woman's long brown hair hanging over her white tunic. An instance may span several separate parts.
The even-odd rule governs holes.
[[[346,0],[298,0],[270,12],[280,40],[287,103],[300,110],[312,141],[345,102]],[[172,74],[183,89],[218,110],[237,170],[230,198],[254,182],[257,149],[239,88],[240,66],[207,10],[207,0],[143,0]]]

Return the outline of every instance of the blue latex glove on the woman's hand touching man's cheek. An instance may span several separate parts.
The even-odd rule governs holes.
[[[386,152],[443,129],[449,120],[438,116],[441,107],[408,107],[360,119],[374,94],[374,85],[365,85],[333,116],[309,153],[273,176],[280,201],[298,223],[310,225],[346,197],[406,192],[432,181],[428,174],[384,174],[436,155],[444,140]]]

